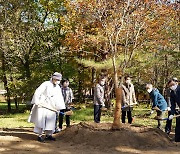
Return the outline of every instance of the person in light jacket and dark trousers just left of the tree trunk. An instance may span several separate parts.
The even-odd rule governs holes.
[[[94,122],[100,123],[101,110],[105,108],[104,85],[106,78],[100,77],[99,83],[94,88]]]

